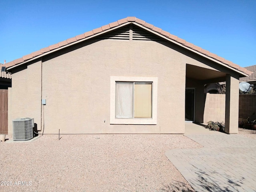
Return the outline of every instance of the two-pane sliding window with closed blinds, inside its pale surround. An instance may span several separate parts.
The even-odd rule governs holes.
[[[152,82],[116,82],[116,118],[152,118]]]

